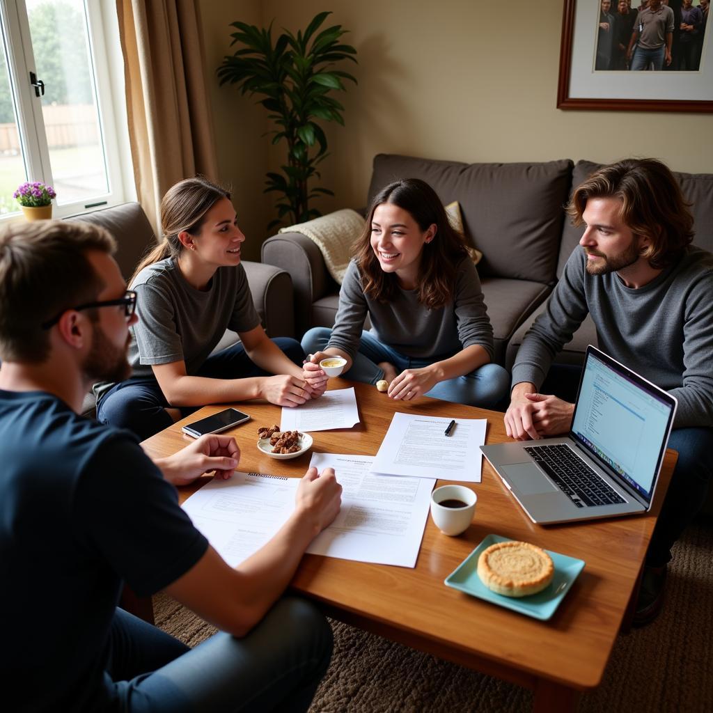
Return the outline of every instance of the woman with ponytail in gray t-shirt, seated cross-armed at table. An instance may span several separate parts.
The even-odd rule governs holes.
[[[139,317],[130,328],[132,376],[95,386],[98,419],[143,439],[205,404],[304,404],[312,394],[304,352],[262,329],[230,193],[205,178],[180,181],[161,201],[161,225],[163,239],[130,281]],[[211,356],[226,329],[241,342]]]

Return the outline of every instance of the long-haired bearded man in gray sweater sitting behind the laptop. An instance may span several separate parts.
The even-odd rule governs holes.
[[[598,170],[568,212],[585,231],[518,350],[506,431],[526,440],[569,430],[581,369],[552,362],[587,314],[602,351],[676,397],[669,446],[679,459],[647,552],[635,616],[644,625],[660,610],[670,549],[713,471],[713,255],[691,245],[681,189],[654,159]]]

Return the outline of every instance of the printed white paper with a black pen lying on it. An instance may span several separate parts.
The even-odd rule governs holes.
[[[480,483],[486,441],[486,419],[451,419],[438,416],[394,414],[374,458],[374,472],[389,476],[443,478]]]

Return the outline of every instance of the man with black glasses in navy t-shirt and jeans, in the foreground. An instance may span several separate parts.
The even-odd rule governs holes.
[[[174,485],[230,477],[235,439],[151,461],[128,431],[78,415],[93,380],[128,374],[136,295],[114,241],[82,222],[0,232],[0,667],[8,710],[306,710],[332,647],[324,617],[280,598],[342,488],[311,468],[295,509],[235,570]],[[224,632],[190,650],[116,607],[159,590]]]

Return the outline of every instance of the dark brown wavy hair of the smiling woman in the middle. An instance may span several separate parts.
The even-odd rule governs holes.
[[[439,309],[451,302],[456,285],[456,267],[468,255],[466,242],[463,235],[451,226],[434,189],[419,178],[390,183],[371,202],[364,232],[354,244],[364,292],[379,302],[389,302],[398,294],[396,274],[381,270],[379,258],[371,249],[371,221],[374,220],[374,211],[382,203],[392,203],[409,212],[424,232],[431,225],[436,225],[434,239],[424,243],[421,252],[416,289],[419,291],[419,302],[429,309]]]

